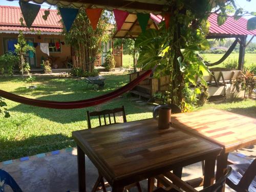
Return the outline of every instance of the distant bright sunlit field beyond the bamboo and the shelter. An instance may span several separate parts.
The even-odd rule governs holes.
[[[207,61],[215,62],[218,61],[224,54],[202,54],[205,56]],[[231,53],[227,59],[237,59],[239,53]],[[226,59],[226,60],[227,60]],[[224,61],[225,62],[225,61]],[[256,54],[255,53],[246,53],[245,54],[245,66],[250,65],[251,63],[256,63]],[[133,56],[132,55],[123,55],[123,67],[132,68],[133,67]],[[222,63],[214,67],[223,67]]]

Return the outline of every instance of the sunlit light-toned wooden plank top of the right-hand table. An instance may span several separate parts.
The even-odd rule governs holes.
[[[172,114],[174,127],[222,146],[225,153],[256,143],[256,119],[208,109]]]

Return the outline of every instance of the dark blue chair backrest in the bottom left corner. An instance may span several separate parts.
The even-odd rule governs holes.
[[[18,186],[16,181],[5,170],[0,169],[0,191],[5,191],[5,185],[9,185],[13,191],[22,192],[22,189]]]

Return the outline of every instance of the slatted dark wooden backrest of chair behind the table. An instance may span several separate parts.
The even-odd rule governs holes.
[[[103,125],[107,125],[106,118],[109,119],[109,124],[117,123],[116,122],[116,115],[115,114],[119,113],[119,112],[122,112],[123,122],[127,122],[123,105],[122,105],[121,108],[115,108],[115,109],[111,109],[111,110],[94,111],[94,112],[87,111],[88,129],[92,128],[92,125],[91,125],[91,117],[92,116],[98,116],[98,118],[99,118],[99,126],[103,126]],[[114,122],[111,121],[111,114],[113,115]],[[103,117],[103,119],[104,119],[104,124],[101,123],[101,117]]]

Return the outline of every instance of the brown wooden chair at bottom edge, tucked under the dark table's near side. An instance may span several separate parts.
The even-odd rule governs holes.
[[[222,190],[222,187],[225,185],[227,177],[231,174],[231,172],[232,168],[228,167],[227,172],[223,177],[221,177],[215,184],[200,190],[200,192],[220,192]],[[181,180],[179,177],[170,172],[157,176],[157,179],[161,180],[161,183],[163,183],[166,189],[158,188],[154,192],[180,192],[180,188],[187,192],[198,192],[198,190],[196,190],[185,181]],[[169,180],[175,182],[175,185]]]

